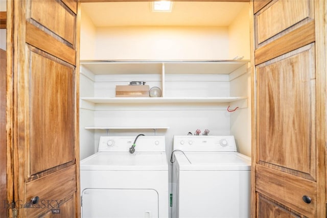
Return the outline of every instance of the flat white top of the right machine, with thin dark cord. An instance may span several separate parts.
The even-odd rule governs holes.
[[[251,159],[238,152],[178,152],[180,171],[249,171]],[[186,157],[188,159],[186,159]]]

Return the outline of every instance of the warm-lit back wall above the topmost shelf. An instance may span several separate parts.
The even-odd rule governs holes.
[[[228,58],[227,27],[97,28],[99,60],[217,60]]]

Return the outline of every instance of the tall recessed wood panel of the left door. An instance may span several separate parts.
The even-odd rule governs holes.
[[[50,58],[31,52],[30,175],[75,161],[75,69]]]

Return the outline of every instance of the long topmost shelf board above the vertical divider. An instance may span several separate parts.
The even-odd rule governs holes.
[[[230,74],[249,60],[212,61],[81,61],[96,75],[106,74]]]

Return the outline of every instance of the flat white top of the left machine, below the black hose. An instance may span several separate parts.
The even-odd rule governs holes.
[[[98,152],[80,162],[89,171],[168,171],[165,152]]]

